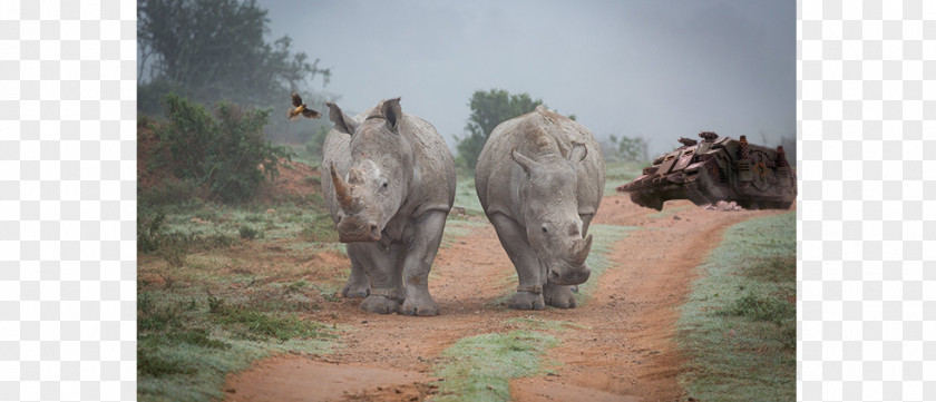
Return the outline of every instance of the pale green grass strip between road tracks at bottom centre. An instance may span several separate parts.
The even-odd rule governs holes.
[[[559,341],[534,331],[465,337],[442,352],[436,401],[509,401],[510,379],[542,372],[545,351]]]

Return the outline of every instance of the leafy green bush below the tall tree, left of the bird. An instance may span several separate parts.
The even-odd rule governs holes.
[[[264,138],[271,109],[243,109],[221,101],[213,118],[204,106],[175,94],[165,98],[167,124],[157,129],[172,155],[176,177],[195,179],[221,202],[251,198],[265,177],[275,179],[280,158],[291,160],[287,147]]]

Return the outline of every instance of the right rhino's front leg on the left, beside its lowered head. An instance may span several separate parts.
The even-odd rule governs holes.
[[[536,252],[527,243],[526,232],[516,220],[504,214],[494,214],[490,222],[497,231],[497,238],[500,245],[514,263],[517,269],[519,287],[517,293],[510,297],[507,305],[515,310],[543,310],[546,304],[543,300],[543,273],[539,267],[539,258]]]

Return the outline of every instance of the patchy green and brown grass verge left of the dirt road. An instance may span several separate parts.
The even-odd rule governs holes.
[[[321,203],[140,204],[137,396],[225,398],[228,373],[266,356],[330,353],[340,331],[306,318],[348,277]],[[332,264],[335,265],[335,264]]]

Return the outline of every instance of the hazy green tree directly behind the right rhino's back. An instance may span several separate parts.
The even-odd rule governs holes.
[[[503,89],[475,91],[468,102],[471,116],[465,125],[467,136],[456,138],[459,163],[474,169],[490,131],[506,120],[533,111],[538,105],[543,105],[543,100],[533,100],[528,94],[510,95]]]

